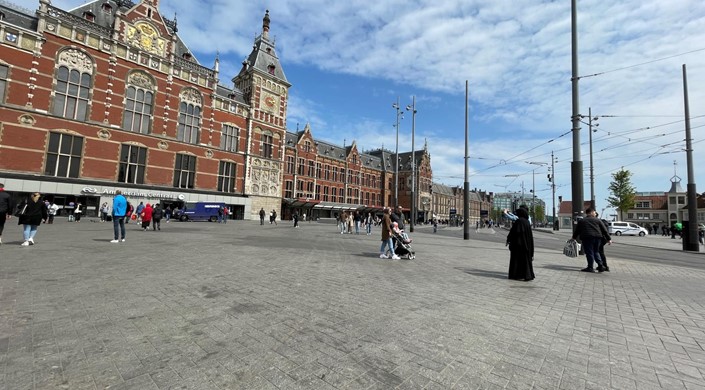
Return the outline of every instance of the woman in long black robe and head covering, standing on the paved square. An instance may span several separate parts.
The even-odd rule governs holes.
[[[519,217],[507,235],[509,245],[509,279],[534,280],[534,235],[531,232],[529,213],[524,208],[516,211]]]

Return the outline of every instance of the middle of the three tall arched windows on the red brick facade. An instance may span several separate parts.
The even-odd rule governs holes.
[[[153,109],[154,81],[146,73],[130,73],[127,77],[122,128],[135,133],[150,133]]]

